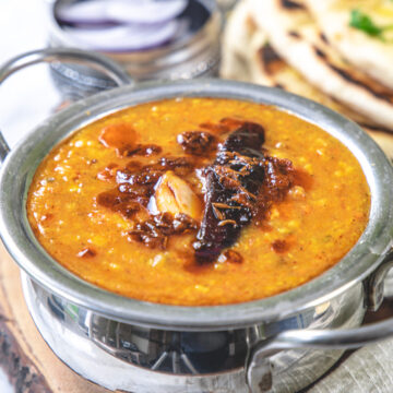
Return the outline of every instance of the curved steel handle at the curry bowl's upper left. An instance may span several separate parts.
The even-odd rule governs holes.
[[[33,50],[7,61],[0,68],[0,85],[8,76],[25,67],[39,62],[51,63],[56,61],[85,63],[104,72],[119,86],[133,83],[131,76],[120,66],[103,55],[73,48],[47,48]],[[10,147],[0,131],[0,163],[4,160],[9,153]]]

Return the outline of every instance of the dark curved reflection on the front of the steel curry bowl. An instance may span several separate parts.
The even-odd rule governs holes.
[[[90,317],[90,338],[119,359],[162,372],[201,374],[243,366],[245,330],[191,333],[132,326]]]

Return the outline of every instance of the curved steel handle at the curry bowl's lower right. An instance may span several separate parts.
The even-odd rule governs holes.
[[[393,251],[365,282],[366,306],[371,310],[383,299],[383,279],[393,267]],[[393,336],[393,317],[382,322],[357,329],[333,330],[288,330],[273,337],[257,342],[250,348],[246,361],[246,380],[251,393],[270,392],[273,386],[273,372],[270,357],[284,349],[350,349]]]

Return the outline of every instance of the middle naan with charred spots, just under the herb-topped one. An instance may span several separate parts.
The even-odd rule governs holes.
[[[309,83],[373,123],[393,130],[393,92],[344,62],[302,2],[250,0],[250,7],[274,50]]]

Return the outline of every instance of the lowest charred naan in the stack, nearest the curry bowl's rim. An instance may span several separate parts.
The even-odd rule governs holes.
[[[288,66],[269,45],[266,35],[252,21],[252,10],[247,1],[234,9],[223,37],[221,76],[237,81],[259,83],[284,88],[301,95],[360,123],[384,153],[393,159],[393,138],[379,130],[356,111],[335,102],[307,82],[299,72]]]

